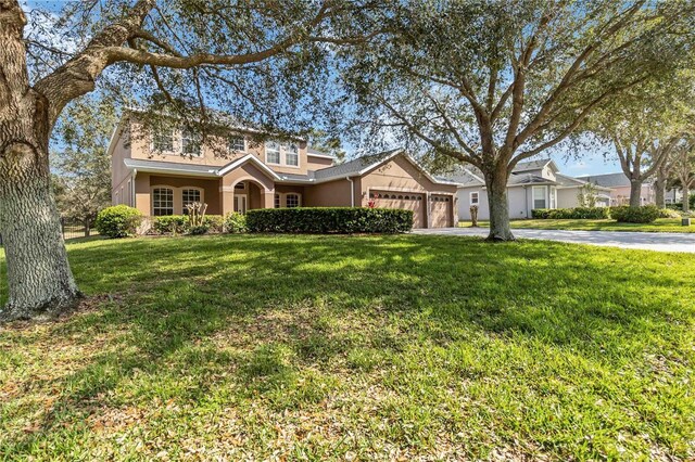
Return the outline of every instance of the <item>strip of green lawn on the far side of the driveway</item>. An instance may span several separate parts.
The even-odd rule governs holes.
[[[479,226],[490,226],[479,221]],[[459,221],[459,227],[469,227],[470,221]],[[680,218],[659,218],[649,224],[619,223],[616,220],[511,220],[511,228],[534,230],[577,230],[577,231],[640,231],[640,232],[695,232],[695,224],[681,226]]]

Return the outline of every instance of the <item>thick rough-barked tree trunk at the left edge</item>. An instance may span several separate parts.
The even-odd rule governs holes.
[[[0,234],[10,288],[0,320],[53,316],[79,296],[50,192],[49,104],[28,84],[25,24],[16,1],[0,1]]]

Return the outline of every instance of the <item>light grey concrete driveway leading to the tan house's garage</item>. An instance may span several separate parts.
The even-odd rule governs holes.
[[[488,228],[433,228],[413,230],[415,234],[473,235],[486,238]],[[695,254],[695,233],[629,232],[629,231],[558,231],[513,229],[518,239],[569,242],[656,252]]]

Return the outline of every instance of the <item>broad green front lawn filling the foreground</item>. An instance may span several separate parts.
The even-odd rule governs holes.
[[[68,251],[81,311],[0,328],[0,460],[695,457],[693,255],[424,235]]]

